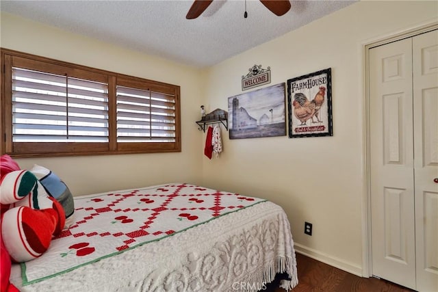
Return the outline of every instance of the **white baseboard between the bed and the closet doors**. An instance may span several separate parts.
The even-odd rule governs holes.
[[[313,250],[313,248],[308,248],[307,246],[301,245],[300,243],[295,243],[294,248],[295,251],[299,254],[309,256],[309,258],[313,258],[316,261],[326,263],[327,265],[331,265],[333,267],[337,267],[338,269],[342,269],[343,271],[347,271],[350,274],[362,277],[362,267],[358,265],[348,263],[340,258],[335,258],[318,250]]]

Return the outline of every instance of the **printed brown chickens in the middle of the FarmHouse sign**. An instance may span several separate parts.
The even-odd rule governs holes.
[[[324,86],[320,86],[320,90],[315,97],[309,101],[305,94],[298,92],[294,95],[294,101],[292,105],[294,106],[294,115],[298,120],[300,120],[300,126],[306,125],[307,120],[311,119],[312,122],[313,117],[316,118],[316,122],[322,122],[319,118],[319,111],[324,103],[324,94],[326,88]]]

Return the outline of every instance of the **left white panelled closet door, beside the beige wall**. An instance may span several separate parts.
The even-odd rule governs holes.
[[[415,289],[412,40],[370,49],[372,273]]]

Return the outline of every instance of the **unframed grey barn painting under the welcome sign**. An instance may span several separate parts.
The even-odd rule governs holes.
[[[228,98],[230,139],[286,135],[285,83]]]

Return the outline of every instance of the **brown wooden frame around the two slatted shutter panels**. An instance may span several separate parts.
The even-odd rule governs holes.
[[[179,85],[132,77],[106,70],[90,68],[56,59],[0,48],[0,153],[13,157],[59,157],[77,155],[116,155],[152,152],[181,152],[181,101]],[[13,142],[12,141],[12,66],[65,74],[108,83],[108,142]],[[57,72],[54,72],[57,71]],[[175,96],[175,142],[117,142],[116,86],[123,85],[155,90]]]

